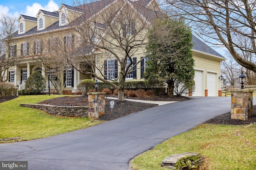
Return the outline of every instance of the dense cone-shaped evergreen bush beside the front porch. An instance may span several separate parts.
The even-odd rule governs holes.
[[[25,89],[20,90],[18,95],[35,95],[40,94],[46,87],[45,78],[40,72],[35,71],[28,77],[25,84]]]

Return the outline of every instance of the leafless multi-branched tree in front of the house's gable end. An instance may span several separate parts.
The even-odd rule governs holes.
[[[145,51],[147,31],[157,14],[137,3],[103,0],[78,4],[76,9],[84,13],[79,13],[71,22],[80,39],[77,53],[82,54],[79,57],[84,62],[81,64],[81,60],[72,55],[68,62],[83,74],[90,74],[118,89],[120,101],[124,101],[127,76],[136,72],[140,62],[148,56]],[[112,71],[107,71],[108,66],[113,66]]]

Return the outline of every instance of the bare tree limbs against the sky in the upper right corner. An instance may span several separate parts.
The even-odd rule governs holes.
[[[237,63],[256,72],[256,64],[241,51],[256,54],[255,0],[165,0],[172,16],[186,19],[198,35],[215,45],[224,45]],[[241,37],[251,46],[240,43]],[[212,40],[214,39],[214,40]]]

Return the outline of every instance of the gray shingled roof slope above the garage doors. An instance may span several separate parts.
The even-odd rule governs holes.
[[[194,50],[202,51],[204,53],[208,53],[208,54],[211,54],[211,55],[216,55],[218,57],[221,57],[221,58],[225,59],[225,57],[220,55],[217,51],[215,51],[214,49],[212,49],[211,47],[206,45],[206,43],[204,43],[203,41],[201,41],[200,39],[198,39],[194,35],[192,35],[192,42],[194,43],[194,46],[193,46]]]

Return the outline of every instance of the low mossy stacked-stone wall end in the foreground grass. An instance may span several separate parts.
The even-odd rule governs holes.
[[[184,152],[165,157],[161,166],[171,170],[180,170],[182,167],[194,169],[198,168],[198,166],[200,166],[202,163],[203,160],[199,153]]]

